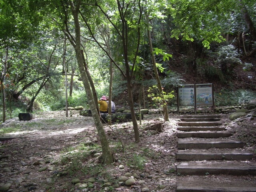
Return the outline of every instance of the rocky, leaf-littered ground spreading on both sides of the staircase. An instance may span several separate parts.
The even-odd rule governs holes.
[[[256,150],[254,114],[234,121],[222,114],[223,126],[244,141],[249,151]],[[8,120],[1,125],[0,137],[15,138],[0,142],[0,191],[174,192],[177,178],[182,177],[175,173],[180,116],[170,115],[168,123],[161,117],[144,116],[139,143],[134,142],[131,122],[105,126],[118,160],[110,166],[96,160],[101,148],[92,117],[80,116],[78,111],[66,117],[64,111],[56,111],[34,114],[30,121]],[[163,133],[144,130],[158,122],[164,125]],[[211,177],[221,179],[204,176],[205,180]]]

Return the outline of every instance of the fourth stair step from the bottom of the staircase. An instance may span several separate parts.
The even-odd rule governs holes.
[[[178,149],[240,148],[244,143],[237,140],[216,138],[179,138]]]

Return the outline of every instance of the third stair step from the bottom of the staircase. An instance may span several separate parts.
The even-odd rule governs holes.
[[[241,150],[212,149],[208,150],[178,150],[177,160],[202,161],[202,160],[250,160],[253,153]]]

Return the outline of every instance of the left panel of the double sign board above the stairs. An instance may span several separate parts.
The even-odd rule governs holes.
[[[183,85],[179,87],[178,92],[180,106],[194,106],[194,85]]]

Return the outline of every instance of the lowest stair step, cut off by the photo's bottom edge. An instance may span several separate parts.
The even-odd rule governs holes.
[[[177,192],[256,192],[254,176],[186,176],[177,179]]]

